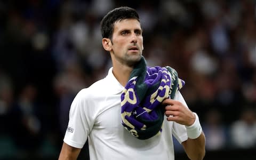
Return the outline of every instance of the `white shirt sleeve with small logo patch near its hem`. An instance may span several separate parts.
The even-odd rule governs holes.
[[[69,146],[83,148],[93,126],[89,113],[87,89],[83,89],[74,98],[69,110],[69,122],[63,141]]]

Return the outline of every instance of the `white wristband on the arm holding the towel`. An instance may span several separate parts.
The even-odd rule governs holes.
[[[201,124],[199,122],[199,118],[198,118],[196,113],[194,113],[194,114],[196,116],[195,122],[190,126],[185,125],[185,127],[187,129],[188,138],[190,138],[190,139],[196,139],[202,133],[202,127],[201,127]]]

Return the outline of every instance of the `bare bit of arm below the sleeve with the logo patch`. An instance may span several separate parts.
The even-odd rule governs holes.
[[[75,148],[67,145],[67,143],[63,142],[59,160],[75,160],[77,159],[81,149]]]

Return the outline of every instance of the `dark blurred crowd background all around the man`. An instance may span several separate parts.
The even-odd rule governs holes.
[[[58,159],[76,93],[111,66],[100,20],[137,9],[149,66],[171,66],[205,159],[256,159],[255,1],[0,1],[0,159]],[[174,141],[176,159],[188,159]],[[100,149],[100,148],[99,148]],[[87,146],[78,159],[89,159]]]

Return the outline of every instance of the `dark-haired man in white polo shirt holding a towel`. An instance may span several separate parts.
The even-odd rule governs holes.
[[[205,137],[198,116],[188,109],[178,90],[173,99],[161,97],[161,91],[164,91],[163,95],[169,94],[174,90],[173,86],[158,85],[158,90],[150,93],[151,97],[155,96],[150,99],[150,102],[159,100],[162,107],[164,105],[163,115],[166,116],[162,120],[161,129],[155,130],[155,124],[152,123],[153,130],[157,131],[157,134],[150,135],[152,132],[147,130],[150,125],[143,125],[143,122],[138,120],[145,110],[147,114],[145,117],[149,118],[148,121],[153,122],[157,119],[159,122],[158,120],[161,119],[158,118],[161,117],[161,111],[154,112],[161,108],[159,105],[154,109],[149,109],[146,105],[142,108],[142,111],[145,110],[138,115],[137,112],[140,111],[138,108],[146,100],[139,99],[140,96],[137,94],[144,90],[139,90],[139,87],[131,88],[137,85],[136,83],[147,87],[155,82],[149,79],[147,85],[144,85],[146,81],[138,81],[140,76],[131,78],[138,63],[143,66],[143,38],[138,13],[130,7],[119,7],[110,11],[101,21],[101,32],[103,48],[110,52],[113,67],[109,69],[105,78],[76,95],[71,104],[68,129],[59,159],[76,159],[87,138],[90,159],[93,160],[174,159],[172,135],[183,145],[190,159],[203,159]],[[147,74],[145,79],[165,74],[162,76],[161,85],[162,82],[170,82],[170,77],[174,77],[174,83],[175,76],[170,76],[170,70],[158,69],[159,74],[150,75],[148,71],[151,70],[148,68],[147,73],[145,72]],[[139,105],[137,99],[141,101]],[[138,106],[129,111],[129,107],[134,104]],[[137,114],[136,118],[132,116],[134,114]],[[142,127],[138,129],[137,126],[141,123]]]

